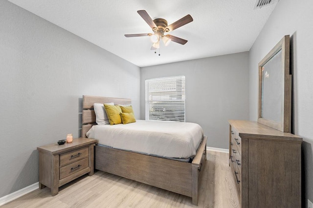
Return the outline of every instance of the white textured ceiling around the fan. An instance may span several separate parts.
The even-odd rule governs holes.
[[[249,51],[276,3],[253,9],[255,0],[9,0],[139,67]],[[187,39],[185,45],[160,44],[151,51],[151,33],[138,15],[168,24],[190,14],[194,21],[169,34]]]

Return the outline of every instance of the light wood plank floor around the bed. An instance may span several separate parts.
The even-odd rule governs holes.
[[[228,166],[228,153],[208,151],[203,172],[198,207],[239,208],[235,181]],[[158,189],[96,171],[82,176],[63,187],[59,194],[50,195],[50,189],[37,189],[1,208],[189,208],[190,197]]]

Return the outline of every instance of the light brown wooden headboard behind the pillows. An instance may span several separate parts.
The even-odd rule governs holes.
[[[96,115],[93,110],[93,103],[111,102],[113,102],[114,105],[132,104],[131,99],[83,95],[82,137],[86,138],[86,133],[89,129],[93,125],[96,125]]]

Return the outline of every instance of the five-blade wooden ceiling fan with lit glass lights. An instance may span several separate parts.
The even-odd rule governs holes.
[[[186,15],[185,17],[177,20],[176,22],[167,25],[167,21],[165,19],[154,19],[152,20],[151,17],[145,10],[138,10],[137,13],[144,19],[148,25],[152,28],[153,33],[141,33],[141,34],[128,34],[125,37],[141,37],[141,36],[151,36],[151,40],[153,42],[151,50],[156,50],[160,47],[160,39],[164,42],[165,46],[167,46],[170,41],[177,42],[179,44],[184,45],[188,40],[178,38],[172,35],[164,35],[164,33],[171,32],[189,22],[192,22],[193,19],[190,15]]]

